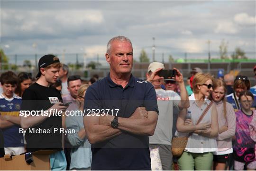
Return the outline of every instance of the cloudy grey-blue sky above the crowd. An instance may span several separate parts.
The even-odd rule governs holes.
[[[207,56],[236,47],[255,57],[256,2],[252,1],[0,1],[0,46],[7,54],[83,53],[103,56],[108,40],[129,37],[156,58]],[[206,54],[206,55],[205,55]],[[201,56],[201,55],[199,55]]]

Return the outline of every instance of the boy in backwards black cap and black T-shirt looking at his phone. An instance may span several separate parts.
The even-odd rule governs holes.
[[[51,170],[66,170],[66,160],[62,149],[62,116],[52,116],[53,111],[64,111],[60,92],[51,87],[59,76],[61,63],[54,55],[45,55],[38,62],[38,80],[30,85],[22,95],[21,111],[31,111],[29,116],[20,113],[21,127],[27,141],[27,152],[51,149]],[[32,116],[33,111],[33,116]],[[39,112],[36,116],[35,111]],[[47,115],[42,114],[48,113]],[[57,130],[57,131],[54,131]]]

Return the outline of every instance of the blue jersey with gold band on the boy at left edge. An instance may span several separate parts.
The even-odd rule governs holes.
[[[21,98],[14,95],[11,99],[0,94],[0,115],[19,117]],[[15,124],[8,128],[2,128],[4,147],[24,146],[23,135],[19,133],[20,125]]]

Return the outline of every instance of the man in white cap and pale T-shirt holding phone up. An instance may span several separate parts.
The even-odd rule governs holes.
[[[163,69],[165,69],[164,64],[160,62],[152,62],[149,64],[146,73],[147,81],[155,88],[157,105],[159,108],[159,117],[155,128],[155,134],[149,137],[149,144],[151,150],[158,148],[162,169],[173,170],[173,155],[171,151],[171,141],[173,137],[173,107],[178,110],[188,108],[189,99],[182,73],[176,68],[172,71]],[[181,96],[172,90],[166,91],[161,88],[164,80],[163,76],[170,77],[178,83],[181,90]],[[154,162],[154,159],[151,158],[151,161]]]

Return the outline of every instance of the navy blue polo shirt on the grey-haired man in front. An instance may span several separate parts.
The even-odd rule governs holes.
[[[132,75],[123,88],[109,74],[91,85],[85,94],[85,111],[109,111],[109,115],[129,118],[141,106],[158,113],[153,85]],[[126,131],[108,141],[92,144],[91,170],[151,170],[148,146],[148,136]]]

